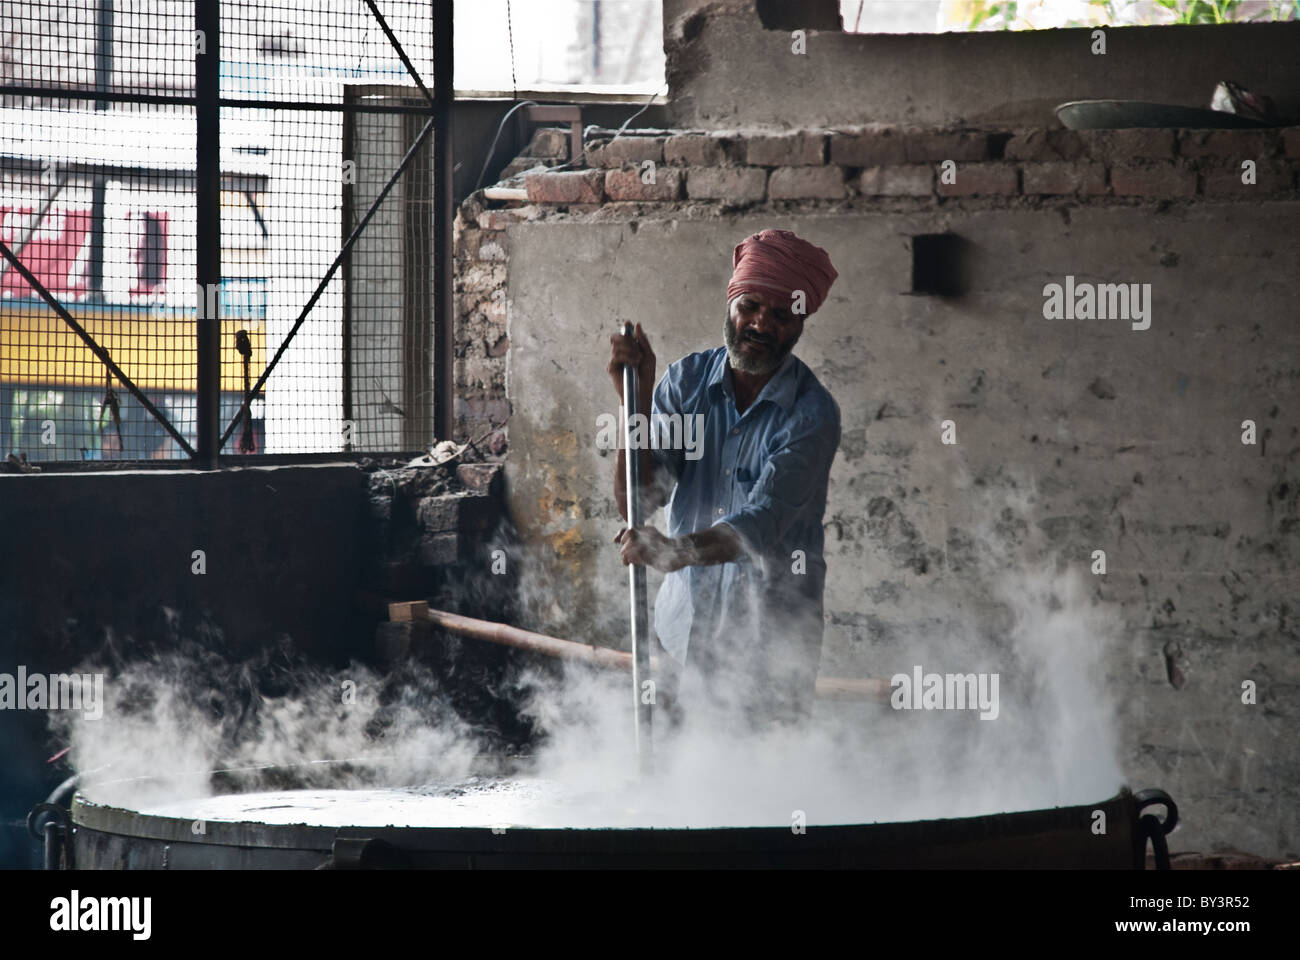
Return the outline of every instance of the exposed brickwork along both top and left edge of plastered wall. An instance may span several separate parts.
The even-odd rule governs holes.
[[[1300,127],[1265,130],[594,131],[540,130],[507,167],[516,199],[472,194],[456,219],[456,429],[508,420],[506,280],[512,224],[802,209],[926,209],[959,202],[1239,203],[1300,198]],[[1245,161],[1253,181],[1244,182]],[[883,207],[884,204],[884,207]],[[493,434],[504,457],[506,436]]]

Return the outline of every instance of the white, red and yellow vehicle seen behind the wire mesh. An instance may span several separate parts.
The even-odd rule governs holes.
[[[192,446],[200,311],[220,308],[222,317],[222,428],[266,363],[264,170],[256,157],[235,169],[226,164],[229,277],[200,297],[191,130],[182,121],[174,131],[151,121],[157,160],[142,169],[138,161],[124,167],[112,147],[133,135],[124,124],[138,120],[86,111],[51,116],[58,129],[51,124],[46,140],[0,137],[0,239]],[[260,395],[252,399],[225,453],[264,450],[263,406]],[[31,462],[186,457],[31,282],[0,259],[0,459],[10,453]]]

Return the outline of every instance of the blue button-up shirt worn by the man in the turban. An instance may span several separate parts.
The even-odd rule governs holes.
[[[653,450],[656,464],[676,481],[666,506],[668,536],[725,523],[749,550],[737,562],[664,576],[655,598],[659,643],[686,663],[688,652],[696,661],[725,645],[724,635],[740,636],[745,665],[757,662],[755,650],[767,649],[775,653],[775,669],[785,676],[797,673],[811,697],[826,585],[822,518],[840,446],[838,405],[789,354],[740,414],[727,349],[716,347],[668,367],[655,386],[653,414],[655,421],[671,414],[703,415],[703,437],[694,437],[699,446],[689,457],[685,449]],[[749,628],[729,630],[740,624]]]

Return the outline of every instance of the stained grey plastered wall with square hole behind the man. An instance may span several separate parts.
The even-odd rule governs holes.
[[[797,349],[844,425],[822,673],[888,676],[915,662],[918,632],[942,630],[936,610],[979,618],[970,559],[996,519],[980,494],[1031,487],[1017,519],[1065,562],[1108,554],[1092,583],[1123,619],[1109,678],[1127,782],[1179,801],[1178,849],[1294,856],[1296,213],[970,204],[508,226],[507,476],[536,548],[530,626],[625,644],[612,458],[595,445],[597,416],[616,408],[608,333],[640,320],[660,372],[719,345],[732,246],[793,229],[841,274]],[[945,230],[971,245],[970,291],[909,295],[910,237]],[[1150,284],[1150,329],[1045,320],[1043,287],[1066,274]],[[956,446],[939,442],[944,419]],[[1242,444],[1244,419],[1258,445]],[[1240,702],[1244,679],[1256,708]]]

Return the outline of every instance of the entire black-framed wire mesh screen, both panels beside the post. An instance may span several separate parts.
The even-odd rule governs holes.
[[[0,455],[187,460],[217,316],[222,454],[430,438],[432,4],[226,0],[217,38],[204,5],[5,4]],[[220,284],[199,282],[200,195]]]

